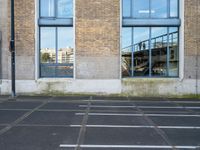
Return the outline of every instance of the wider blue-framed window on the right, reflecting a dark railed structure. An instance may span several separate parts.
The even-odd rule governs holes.
[[[122,76],[178,77],[180,20],[170,24],[174,19],[167,18],[177,17],[178,1],[123,0],[123,9],[128,4],[131,13],[123,10]],[[127,19],[130,14],[135,18]]]

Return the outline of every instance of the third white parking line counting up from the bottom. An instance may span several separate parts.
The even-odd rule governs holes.
[[[85,113],[75,113],[77,116]],[[119,113],[88,113],[89,116],[149,116],[149,117],[200,117],[200,115],[183,115],[183,114],[119,114]]]

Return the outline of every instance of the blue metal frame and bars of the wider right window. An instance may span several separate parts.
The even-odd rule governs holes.
[[[132,46],[133,46],[133,40],[134,40],[134,37],[133,37],[133,34],[134,34],[134,28],[135,27],[148,27],[149,28],[149,66],[151,66],[151,63],[152,63],[152,51],[151,51],[151,40],[152,40],[152,37],[151,37],[151,30],[153,27],[167,27],[167,40],[168,40],[168,43],[167,43],[167,64],[166,64],[166,70],[167,70],[167,75],[166,76],[152,76],[152,73],[151,73],[151,69],[149,69],[149,76],[134,76],[134,71],[132,69],[132,71],[130,72],[131,73],[131,76],[129,76],[129,78],[178,78],[180,76],[180,26],[181,26],[181,20],[180,20],[180,0],[177,0],[177,17],[171,17],[170,14],[171,14],[171,11],[170,11],[170,0],[167,0],[167,18],[134,18],[133,17],[133,2],[132,0],[130,0],[131,2],[131,8],[130,8],[130,17],[124,17],[123,16],[123,8],[124,8],[124,3],[123,3],[124,0],[122,0],[122,30],[123,28],[131,28],[131,34],[132,34],[132,37],[131,37],[131,41],[132,41]],[[152,0],[149,0],[150,3]],[[151,5],[151,4],[150,4]],[[151,6],[150,6],[151,7]],[[149,10],[151,10],[151,8],[149,7]],[[151,16],[151,15],[149,15]],[[178,46],[178,68],[177,68],[177,76],[169,76],[169,51],[170,51],[170,46],[169,46],[169,29],[170,27],[177,27],[177,32],[178,32],[178,39],[177,39],[177,46]],[[122,36],[121,36],[122,37]],[[121,46],[121,61],[122,61],[122,50],[123,50],[123,47]],[[134,50],[133,48],[131,48],[131,53],[133,53]],[[133,54],[131,54],[131,67],[133,67]],[[122,64],[121,64],[121,67],[122,67]],[[122,78],[127,78],[127,77],[123,77],[122,75],[122,71],[121,71],[121,76]]]

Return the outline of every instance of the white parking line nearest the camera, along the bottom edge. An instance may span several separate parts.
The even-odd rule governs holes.
[[[74,148],[78,145],[60,144],[61,148]],[[80,145],[81,148],[151,148],[151,149],[197,149],[198,146],[166,146],[166,145]]]

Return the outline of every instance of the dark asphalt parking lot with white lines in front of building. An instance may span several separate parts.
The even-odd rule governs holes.
[[[0,149],[200,149],[199,112],[196,100],[6,100],[0,103]]]

